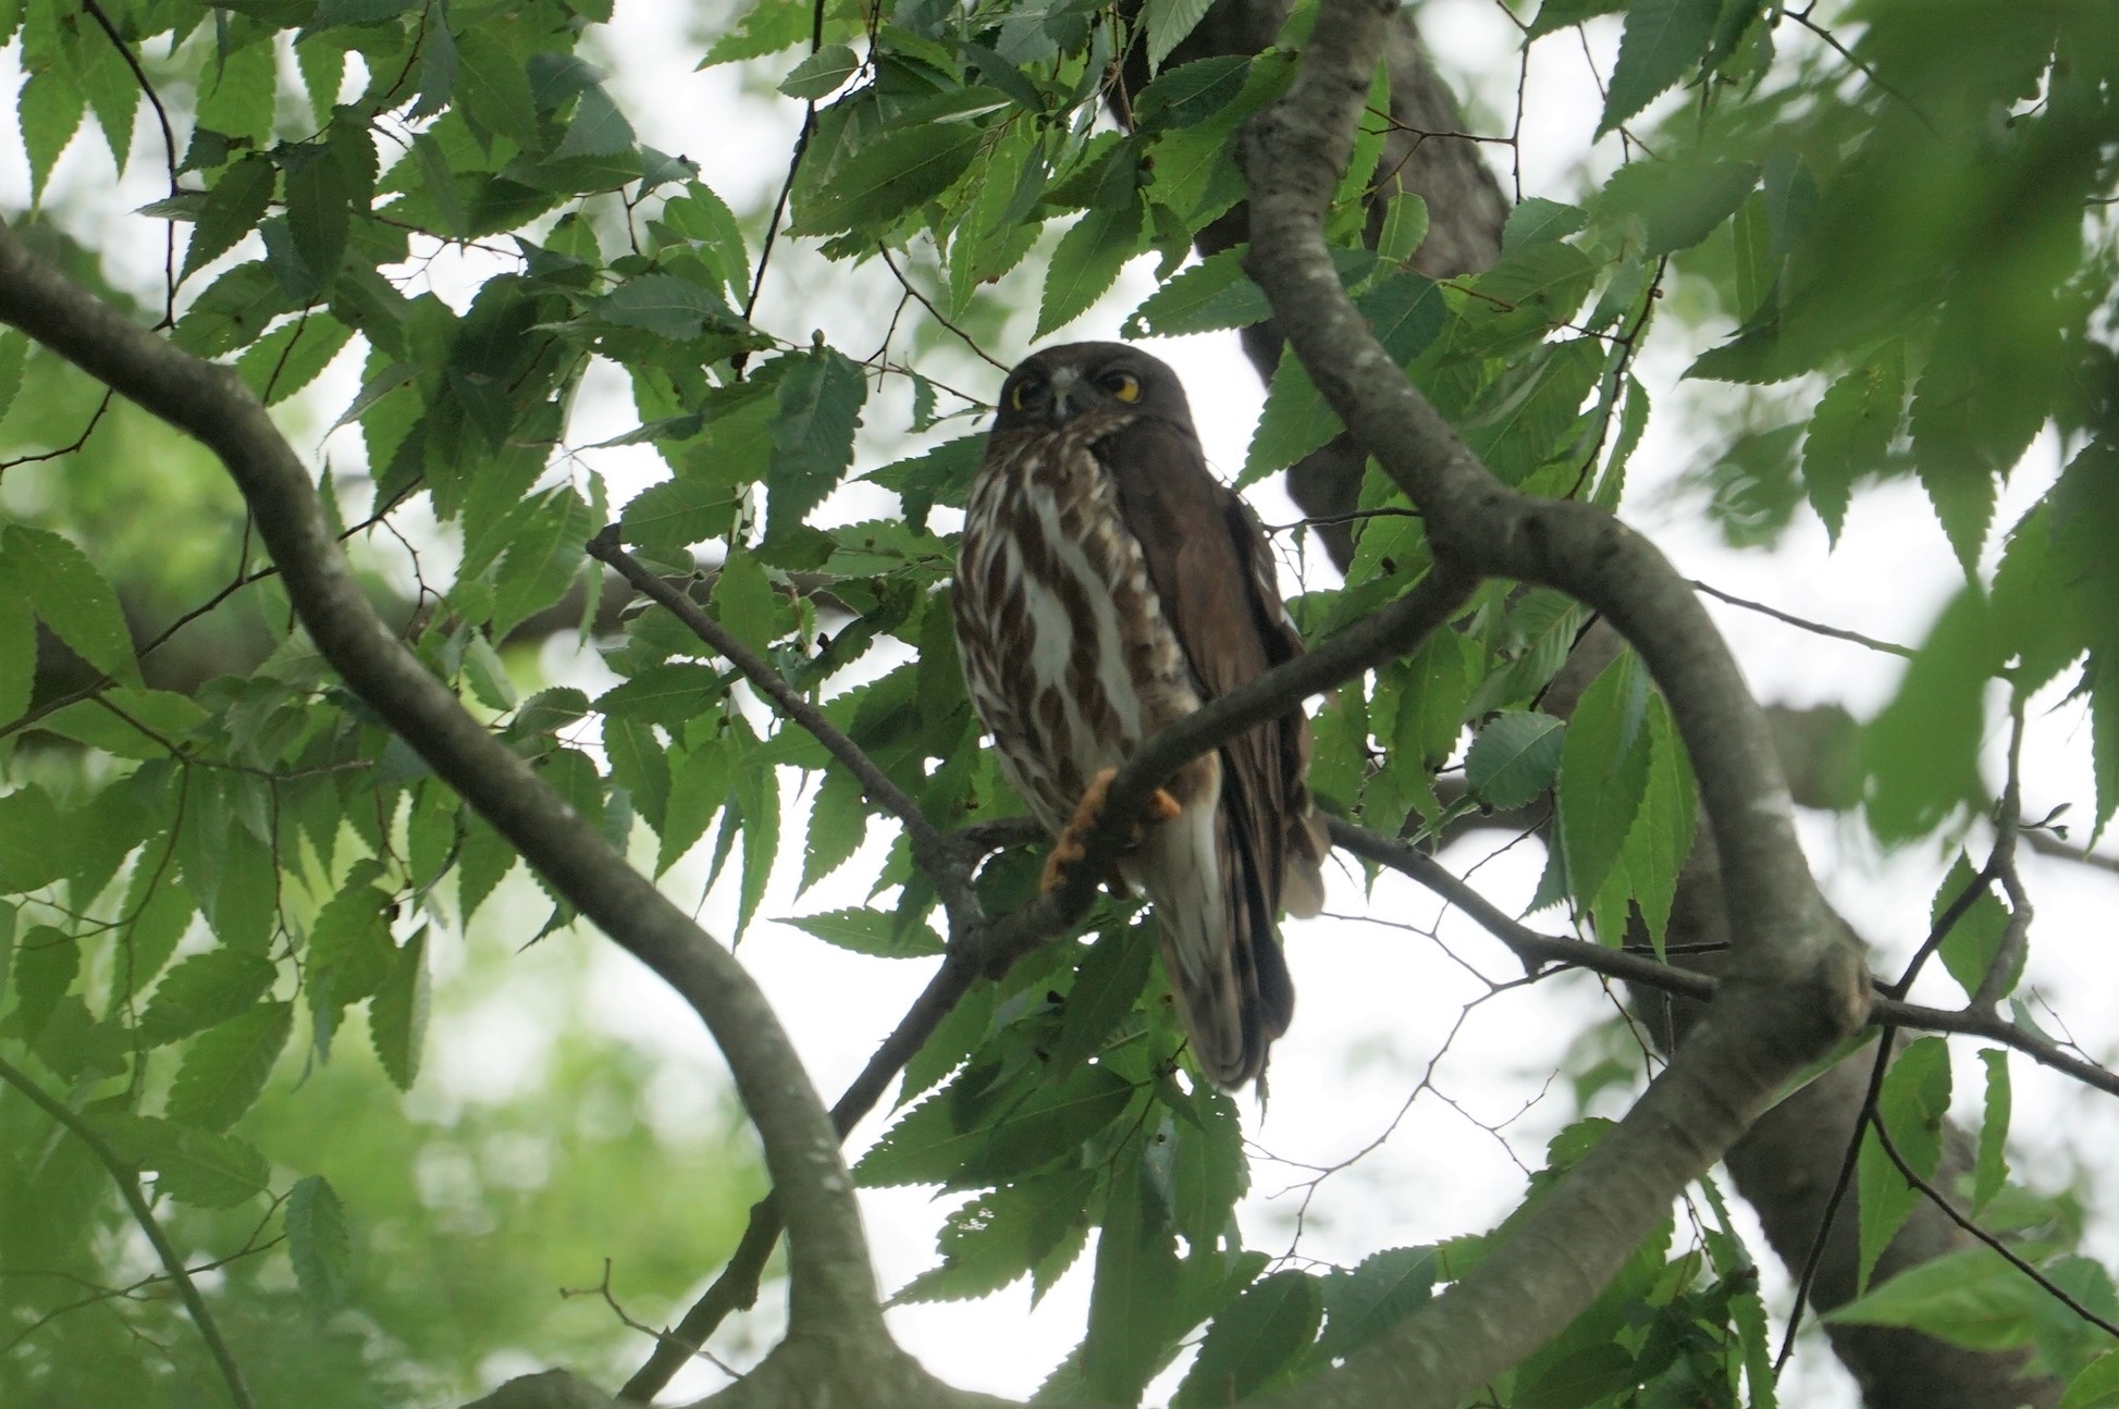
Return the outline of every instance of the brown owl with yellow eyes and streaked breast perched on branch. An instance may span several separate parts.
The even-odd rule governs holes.
[[[1140,744],[1301,655],[1257,517],[1206,466],[1176,373],[1125,343],[1047,347],[1000,388],[971,487],[956,638],[1007,778],[1081,854]],[[1295,987],[1280,913],[1322,905],[1301,710],[1163,784],[1119,875],[1146,894],[1197,1068],[1261,1081]]]

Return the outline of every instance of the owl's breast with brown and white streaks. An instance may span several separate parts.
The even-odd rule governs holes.
[[[1199,708],[1096,458],[1098,439],[1127,420],[1087,415],[998,441],[964,517],[956,631],[973,708],[1055,833],[1096,771]]]

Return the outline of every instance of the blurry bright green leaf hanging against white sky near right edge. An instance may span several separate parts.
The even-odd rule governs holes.
[[[1880,841],[1911,841],[1960,803],[1981,805],[1979,742],[1996,665],[1988,606],[1966,587],[1907,663],[1897,695],[1863,729],[1865,809]]]

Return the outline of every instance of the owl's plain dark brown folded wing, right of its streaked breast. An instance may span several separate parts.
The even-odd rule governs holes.
[[[1201,699],[1301,653],[1257,519],[1206,468],[1187,428],[1142,417],[1104,436],[1098,456]],[[1310,811],[1307,761],[1310,723],[1299,710],[1221,748],[1216,841],[1229,862],[1229,958],[1252,1072],[1295,1006],[1274,920],[1282,909],[1314,915],[1322,900],[1324,845]]]

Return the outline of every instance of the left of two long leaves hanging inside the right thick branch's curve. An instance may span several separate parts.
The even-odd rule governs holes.
[[[1560,841],[1568,888],[1583,905],[1602,890],[1646,797],[1646,714],[1649,676],[1625,650],[1589,682],[1568,723],[1560,750]]]

